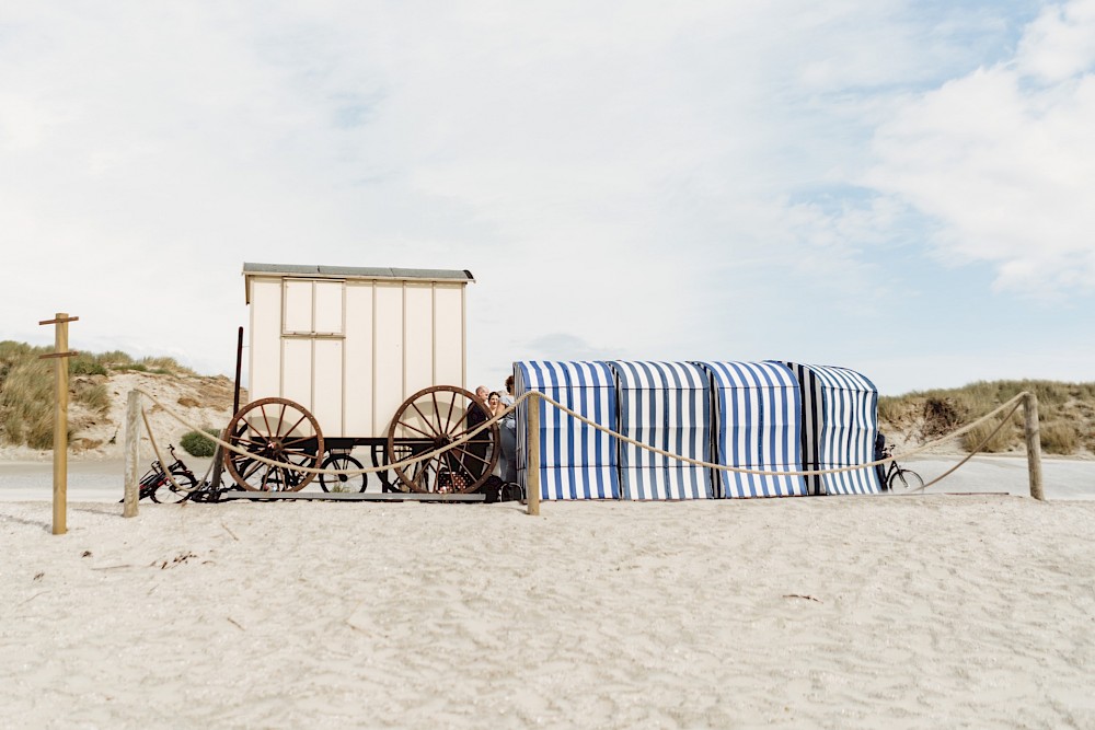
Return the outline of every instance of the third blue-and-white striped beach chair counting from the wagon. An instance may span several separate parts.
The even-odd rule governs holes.
[[[798,382],[779,362],[698,362],[711,375],[717,403],[719,464],[765,472],[802,471],[802,404]],[[800,476],[718,472],[721,496],[797,497]]]

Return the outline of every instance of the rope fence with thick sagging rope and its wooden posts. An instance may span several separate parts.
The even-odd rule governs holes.
[[[160,451],[160,447],[159,447],[159,444],[155,441],[154,434],[152,433],[152,429],[151,429],[151,427],[149,425],[149,421],[148,421],[148,416],[145,413],[145,409],[139,406],[138,399],[135,398],[135,397],[132,397],[134,394],[140,394],[140,395],[147,397],[155,406],[158,406],[159,408],[161,408],[164,413],[166,413],[169,416],[171,416],[172,418],[174,418],[176,421],[178,421],[183,426],[189,428],[191,430],[203,432],[206,436],[206,438],[208,438],[210,441],[214,441],[215,443],[217,443],[224,451],[234,452],[234,453],[238,453],[240,455],[246,456],[249,460],[256,461],[256,462],[260,462],[260,463],[263,463],[263,464],[267,464],[269,466],[276,466],[278,468],[283,468],[283,470],[287,470],[287,471],[299,472],[299,473],[302,473],[302,474],[316,474],[316,475],[318,474],[323,474],[323,475],[331,475],[331,476],[336,476],[336,477],[337,476],[351,477],[351,476],[360,476],[362,474],[374,474],[374,473],[378,473],[378,472],[387,472],[387,471],[390,471],[390,470],[393,470],[393,468],[403,468],[403,467],[411,466],[411,465],[417,464],[419,462],[423,462],[423,461],[426,461],[426,460],[429,460],[429,459],[434,459],[434,457],[436,457],[436,456],[438,456],[440,454],[443,454],[443,453],[446,453],[448,451],[451,451],[453,449],[460,448],[461,445],[463,445],[468,441],[472,440],[480,432],[482,432],[482,431],[491,428],[494,424],[502,421],[508,415],[512,414],[517,409],[518,405],[520,405],[522,402],[525,402],[527,399],[530,399],[530,398],[533,399],[532,407],[530,408],[530,426],[532,426],[532,424],[531,424],[532,420],[539,421],[539,409],[535,407],[535,399],[540,399],[540,401],[542,401],[544,403],[551,404],[553,407],[557,408],[562,413],[567,414],[572,418],[574,418],[574,419],[576,419],[578,421],[581,421],[581,422],[590,426],[591,428],[593,428],[593,429],[596,429],[598,431],[601,431],[601,432],[603,432],[603,433],[606,433],[606,434],[608,434],[608,436],[610,436],[610,437],[612,437],[614,439],[618,439],[618,440],[620,440],[620,441],[622,441],[624,443],[632,444],[632,445],[637,447],[639,449],[643,449],[645,451],[649,451],[652,453],[656,453],[656,454],[659,454],[659,455],[662,455],[662,456],[675,459],[675,460],[677,460],[677,461],[679,461],[681,463],[691,464],[693,466],[700,466],[700,467],[703,467],[703,468],[712,468],[712,470],[716,470],[716,471],[721,471],[721,472],[733,472],[733,473],[750,474],[750,475],[758,475],[758,476],[818,476],[818,475],[822,475],[822,474],[839,474],[839,473],[843,473],[843,472],[853,472],[853,471],[863,470],[863,468],[873,468],[875,466],[880,466],[880,465],[884,465],[884,464],[889,464],[890,462],[895,462],[895,461],[897,461],[899,459],[901,459],[901,460],[908,459],[910,456],[913,456],[915,454],[924,452],[924,451],[926,451],[929,449],[932,449],[933,447],[936,447],[936,445],[938,445],[941,443],[949,441],[950,439],[954,439],[954,438],[957,438],[959,436],[963,436],[963,434],[971,431],[972,429],[981,426],[982,424],[986,424],[986,422],[990,421],[991,419],[995,418],[999,414],[1001,414],[1004,410],[1006,410],[1006,409],[1010,408],[1010,410],[1007,410],[1006,415],[1000,419],[1000,422],[996,425],[995,429],[991,433],[989,433],[989,436],[987,436],[983,439],[981,439],[981,442],[975,449],[972,449],[970,451],[970,453],[965,459],[963,459],[955,466],[953,466],[952,468],[949,468],[948,471],[946,471],[945,473],[943,473],[942,475],[940,475],[935,479],[932,479],[927,484],[925,484],[922,487],[919,487],[918,489],[914,489],[912,491],[920,491],[920,490],[926,489],[927,487],[930,487],[930,486],[938,483],[943,478],[949,476],[956,470],[958,470],[960,466],[963,466],[964,464],[966,464],[970,459],[972,459],[976,454],[978,454],[981,451],[981,449],[983,449],[986,447],[986,444],[989,443],[989,441],[992,440],[992,438],[1000,431],[1001,428],[1004,427],[1005,424],[1008,422],[1008,420],[1011,419],[1012,415],[1015,414],[1015,412],[1019,408],[1019,406],[1025,405],[1026,406],[1026,416],[1027,416],[1026,417],[1026,441],[1027,441],[1027,457],[1028,457],[1029,476],[1030,476],[1030,495],[1031,495],[1031,497],[1035,497],[1036,499],[1044,499],[1045,498],[1042,496],[1042,494],[1041,494],[1040,441],[1039,441],[1038,431],[1037,431],[1037,424],[1038,424],[1038,421],[1037,421],[1037,399],[1034,396],[1034,394],[1028,393],[1028,392],[1019,393],[1018,395],[1014,396],[1013,398],[1011,398],[1006,403],[1004,403],[1004,404],[1000,405],[999,407],[994,408],[993,410],[991,410],[990,413],[986,414],[984,416],[981,416],[977,420],[975,420],[975,421],[972,421],[970,424],[967,424],[966,426],[964,426],[964,427],[961,427],[959,429],[956,429],[956,430],[952,431],[950,433],[942,436],[942,437],[940,437],[940,438],[937,438],[937,439],[935,439],[933,441],[929,441],[927,443],[923,443],[920,447],[917,447],[915,449],[902,452],[900,454],[892,454],[892,455],[886,456],[884,459],[879,459],[879,460],[871,461],[871,462],[865,462],[863,464],[855,464],[855,465],[852,465],[852,466],[840,466],[840,467],[825,468],[825,470],[803,470],[803,471],[787,472],[787,471],[754,470],[754,468],[747,468],[747,467],[741,467],[741,466],[729,466],[729,465],[726,465],[726,464],[716,464],[714,462],[707,462],[707,461],[702,461],[702,460],[698,460],[698,459],[692,459],[690,456],[684,456],[682,454],[676,454],[676,453],[672,453],[670,451],[666,451],[664,449],[659,449],[657,447],[653,447],[653,445],[650,445],[648,443],[643,443],[641,441],[632,439],[631,437],[627,437],[627,436],[625,436],[623,433],[620,433],[618,431],[613,431],[612,429],[610,429],[610,428],[608,428],[606,426],[602,426],[600,424],[597,424],[596,421],[587,418],[586,416],[583,416],[581,414],[578,414],[578,413],[572,410],[570,408],[568,408],[567,406],[563,405],[562,403],[560,403],[560,402],[555,401],[554,398],[552,398],[552,397],[550,397],[550,396],[548,396],[548,395],[545,395],[543,393],[540,393],[538,391],[530,391],[528,393],[525,393],[519,398],[517,398],[517,401],[515,401],[512,405],[510,405],[509,407],[507,407],[500,414],[486,419],[483,424],[476,426],[473,429],[470,429],[469,431],[466,431],[465,433],[463,433],[462,436],[460,436],[460,438],[454,439],[450,443],[448,443],[445,447],[441,447],[439,449],[435,449],[433,451],[428,451],[428,452],[422,453],[422,454],[419,454],[417,456],[410,456],[410,457],[403,459],[401,461],[392,462],[392,463],[380,465],[380,466],[367,466],[367,467],[361,467],[361,468],[356,468],[356,470],[316,468],[316,467],[311,467],[311,466],[303,466],[303,465],[298,465],[298,464],[292,464],[292,463],[287,463],[287,462],[281,462],[281,461],[275,461],[275,460],[272,460],[272,459],[266,459],[264,456],[260,456],[260,455],[254,454],[254,453],[252,453],[250,451],[246,451],[245,449],[241,449],[241,448],[237,447],[235,444],[229,443],[229,442],[224,441],[223,439],[221,439],[219,437],[215,437],[215,436],[205,433],[204,429],[201,429],[201,428],[199,428],[199,427],[194,426],[193,424],[191,424],[188,420],[186,420],[185,418],[183,418],[182,416],[180,416],[178,414],[176,414],[170,407],[168,407],[168,406],[163,405],[162,403],[160,403],[153,395],[151,395],[147,391],[145,391],[142,389],[135,389],[130,393],[130,399],[129,399],[129,403],[128,403],[129,409],[131,410],[135,407],[139,408],[140,416],[141,416],[141,418],[145,421],[145,429],[148,432],[149,440],[152,443],[153,451],[155,452],[157,459],[159,460],[161,466],[163,467],[163,471],[164,471],[164,474],[165,474],[166,478],[171,482],[171,484],[172,484],[172,486],[174,488],[176,488],[176,489],[178,489],[181,491],[194,491],[196,489],[200,489],[201,486],[206,484],[210,472],[207,471],[205,478],[203,478],[201,482],[198,483],[198,486],[195,487],[195,488],[193,488],[193,489],[181,486],[174,479],[174,477],[171,475],[170,470],[166,466],[168,462],[163,459],[163,454]],[[135,404],[138,404],[138,405],[135,405]],[[1031,418],[1031,414],[1033,414],[1033,418]],[[535,416],[535,418],[533,418],[533,415]],[[130,500],[129,500],[129,489],[130,489],[130,486],[131,486],[130,482],[134,483],[132,484],[132,489],[135,490],[135,494],[136,494],[136,476],[135,476],[136,468],[129,468],[129,464],[128,464],[128,461],[129,461],[130,457],[132,459],[134,462],[136,462],[137,459],[138,459],[136,428],[132,428],[132,426],[131,426],[135,422],[136,422],[135,415],[134,414],[129,414],[129,418],[127,419],[127,434],[126,434],[126,441],[127,441],[127,449],[126,449],[126,459],[127,459],[127,471],[126,471],[126,475],[127,475],[127,478],[126,478],[126,490],[127,491],[126,491],[126,495],[127,495],[127,498],[125,500],[125,502],[126,502],[126,512],[127,512],[126,517],[130,517],[130,514],[128,514],[128,512],[130,511]],[[1033,430],[1031,430],[1031,422],[1034,425]],[[129,433],[130,430],[134,431],[134,433],[132,433],[134,438],[132,438],[132,444],[131,445],[130,445],[130,433]],[[530,428],[530,431],[532,431],[532,430],[539,430],[539,429],[538,428],[537,429]],[[530,451],[538,451],[538,449],[533,449],[533,447],[535,447],[535,440],[534,439],[530,439]],[[530,454],[530,457],[531,457],[531,454]],[[210,465],[210,471],[214,467],[215,467],[215,464],[211,464]],[[131,474],[134,476],[130,476]],[[532,491],[532,489],[530,488],[529,491],[530,491],[530,507],[531,507],[531,502],[532,502],[531,491]],[[539,500],[537,500],[537,501],[539,501]],[[134,499],[134,501],[132,501],[132,509],[131,509],[131,511],[132,511],[134,514],[136,514],[136,499]],[[530,509],[530,511],[531,511],[531,509]]]

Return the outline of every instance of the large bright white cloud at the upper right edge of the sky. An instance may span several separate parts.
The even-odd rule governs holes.
[[[1095,3],[1047,8],[1014,62],[911,99],[867,184],[936,219],[940,255],[1039,298],[1095,290]]]

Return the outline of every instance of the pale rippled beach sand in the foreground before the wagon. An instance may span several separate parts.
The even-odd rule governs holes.
[[[1095,501],[0,503],[0,726],[1095,727]]]

